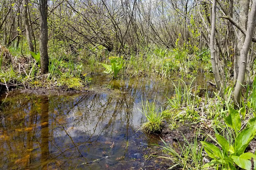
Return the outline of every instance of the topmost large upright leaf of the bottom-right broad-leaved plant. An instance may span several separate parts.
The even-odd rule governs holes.
[[[241,129],[241,119],[240,119],[240,114],[237,110],[233,108],[229,108],[229,116],[225,118],[225,123],[233,128],[238,134],[238,131]]]

